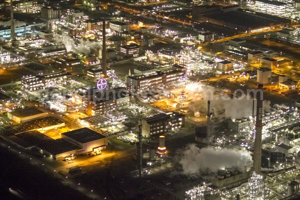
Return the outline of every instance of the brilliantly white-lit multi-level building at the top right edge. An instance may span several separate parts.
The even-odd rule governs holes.
[[[271,0],[248,0],[247,6],[256,11],[277,15],[285,14],[287,9],[287,4],[285,2]]]

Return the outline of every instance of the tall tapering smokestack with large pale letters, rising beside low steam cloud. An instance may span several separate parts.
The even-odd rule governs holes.
[[[261,174],[262,160],[262,102],[263,102],[263,85],[259,84],[256,90],[256,123],[254,139],[253,168],[256,174]]]

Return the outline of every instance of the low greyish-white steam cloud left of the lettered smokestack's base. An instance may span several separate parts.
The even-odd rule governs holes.
[[[183,150],[182,173],[185,175],[201,175],[208,172],[216,174],[219,170],[245,171],[253,165],[252,157],[248,151],[211,148],[198,149],[190,144]]]

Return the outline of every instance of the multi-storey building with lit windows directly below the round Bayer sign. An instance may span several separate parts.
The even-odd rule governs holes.
[[[128,108],[130,95],[124,87],[109,90],[92,88],[85,93],[85,103],[88,116],[109,114]]]

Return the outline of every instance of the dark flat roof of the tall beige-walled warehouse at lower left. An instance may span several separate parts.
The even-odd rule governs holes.
[[[80,143],[86,143],[86,142],[105,138],[103,135],[91,129],[88,129],[86,127],[63,133],[63,135],[72,138]]]

